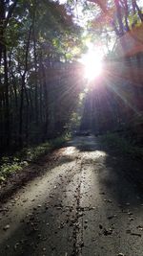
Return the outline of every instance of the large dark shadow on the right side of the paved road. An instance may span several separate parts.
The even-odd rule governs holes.
[[[101,142],[100,138],[77,137],[74,139],[76,149],[91,154],[91,164],[98,175],[99,186],[105,187],[108,197],[126,208],[128,204],[137,206],[143,202],[143,163],[130,155],[121,154]],[[99,158],[94,158],[97,152]],[[100,155],[101,153],[101,155]],[[86,165],[88,158],[84,160]],[[99,167],[100,166],[100,167]],[[98,172],[96,170],[98,169]]]

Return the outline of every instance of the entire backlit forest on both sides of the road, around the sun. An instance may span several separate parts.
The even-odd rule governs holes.
[[[76,4],[0,1],[1,151],[57,137],[69,129],[73,113],[78,115],[86,81],[77,59],[87,46],[81,20],[75,22]],[[87,38],[104,41],[107,51],[103,76],[85,93],[77,127],[95,134],[130,130],[135,139],[139,134],[136,143],[141,143],[142,7],[137,0],[80,5],[83,15],[93,13]]]

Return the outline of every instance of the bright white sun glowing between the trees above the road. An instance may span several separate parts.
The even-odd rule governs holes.
[[[95,50],[89,50],[87,54],[82,56],[80,62],[84,65],[85,79],[93,81],[102,74],[102,58],[102,54]]]

